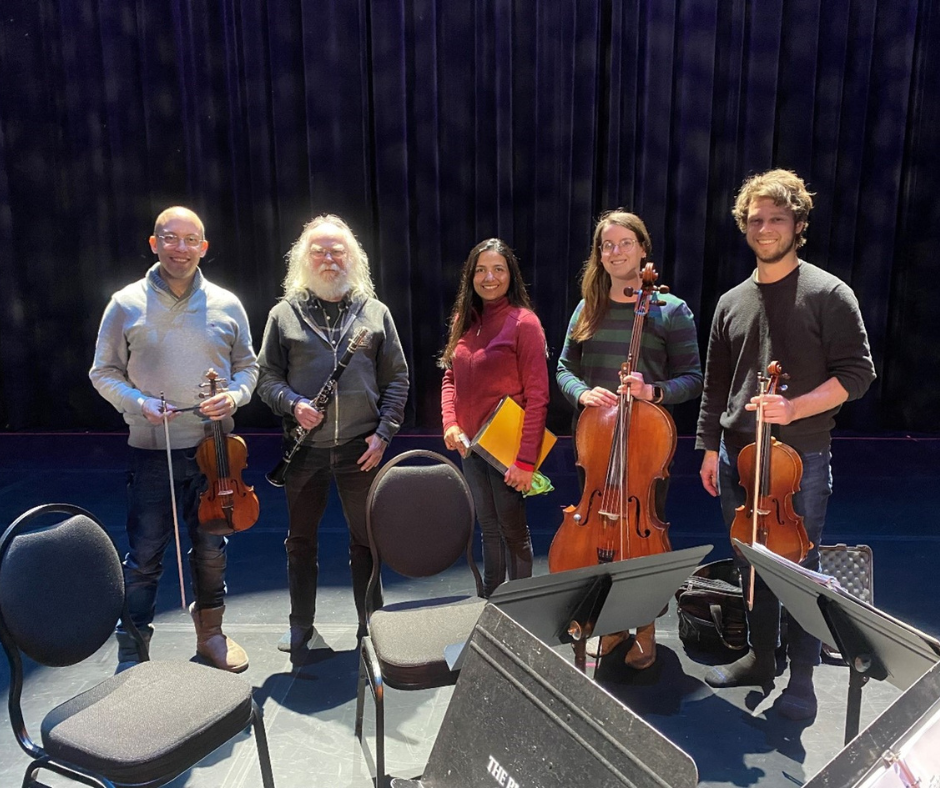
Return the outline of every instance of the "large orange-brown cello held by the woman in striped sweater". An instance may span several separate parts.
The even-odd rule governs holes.
[[[636,368],[650,306],[661,305],[652,263],[642,272],[623,383]],[[634,294],[628,287],[624,293]],[[676,425],[660,405],[633,397],[630,389],[615,406],[585,408],[575,430],[578,465],[585,483],[577,506],[564,509],[548,552],[550,572],[669,552],[669,524],[656,511],[656,487],[669,473],[676,450]]]

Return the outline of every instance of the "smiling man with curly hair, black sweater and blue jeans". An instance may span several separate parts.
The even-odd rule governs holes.
[[[788,170],[770,170],[748,178],[732,214],[755,255],[755,268],[744,282],[718,301],[705,363],[705,391],[695,448],[705,452],[702,485],[721,496],[725,523],[745,503],[737,458],[752,443],[756,412],[772,425],[773,435],[795,449],[803,463],[793,508],[803,518],[813,546],[803,566],[819,568],[819,543],[832,493],[830,432],[843,402],[861,397],[875,379],[868,336],[851,289],[821,268],[801,260],[813,207],[803,180]],[[758,376],[771,361],[787,375],[781,394],[758,396]],[[741,569],[747,564],[736,556]],[[741,572],[748,596],[750,573]],[[820,643],[788,617],[790,678],[776,702],[780,714],[794,720],[816,715],[813,669]],[[713,687],[764,686],[777,674],[775,650],[780,638],[780,603],[758,577],[754,607],[747,611],[748,653],[705,676]]]

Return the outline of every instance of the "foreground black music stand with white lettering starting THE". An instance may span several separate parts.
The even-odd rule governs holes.
[[[470,637],[424,774],[392,779],[392,788],[697,784],[687,753],[495,604]]]

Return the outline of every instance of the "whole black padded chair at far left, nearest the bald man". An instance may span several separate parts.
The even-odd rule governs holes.
[[[49,515],[59,517],[50,522]],[[118,618],[144,661],[52,709],[36,743],[20,706],[22,655],[46,667],[75,665],[101,648]],[[85,785],[164,785],[249,725],[262,784],[274,787],[251,685],[204,665],[148,660],[127,615],[117,548],[84,509],[38,506],[0,537],[0,641],[10,663],[13,733],[33,759],[24,788],[40,785],[41,769]]]

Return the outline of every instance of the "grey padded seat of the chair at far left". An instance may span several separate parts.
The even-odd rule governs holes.
[[[142,662],[50,711],[42,740],[54,758],[143,783],[201,760],[250,725],[251,714],[243,678],[188,662]]]

